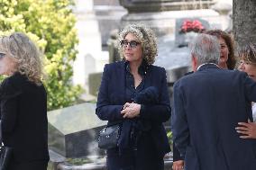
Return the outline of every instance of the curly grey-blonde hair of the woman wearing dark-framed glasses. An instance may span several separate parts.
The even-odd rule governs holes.
[[[142,24],[130,24],[125,26],[123,30],[120,31],[117,44],[120,57],[124,58],[123,49],[120,42],[128,33],[133,33],[133,35],[137,38],[137,41],[142,44],[143,58],[147,64],[153,64],[156,56],[158,55],[156,36],[150,28],[147,28]]]

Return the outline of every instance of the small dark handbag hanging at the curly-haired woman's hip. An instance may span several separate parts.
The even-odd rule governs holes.
[[[109,149],[118,147],[118,139],[121,134],[121,124],[107,125],[100,130],[98,136],[98,148]]]

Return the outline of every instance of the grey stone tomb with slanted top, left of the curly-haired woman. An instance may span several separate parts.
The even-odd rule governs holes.
[[[97,137],[106,121],[95,110],[95,103],[82,103],[48,112],[49,148],[63,157],[105,155],[97,148]]]

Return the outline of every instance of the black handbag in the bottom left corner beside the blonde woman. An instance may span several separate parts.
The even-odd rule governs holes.
[[[0,170],[6,170],[12,157],[13,148],[6,147],[2,140],[2,125],[0,120]]]

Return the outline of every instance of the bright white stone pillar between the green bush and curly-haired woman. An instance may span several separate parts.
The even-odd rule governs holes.
[[[94,11],[93,0],[76,0],[78,55],[74,62],[73,82],[88,92],[88,76],[101,72],[108,63],[108,53],[102,50],[101,33]]]

